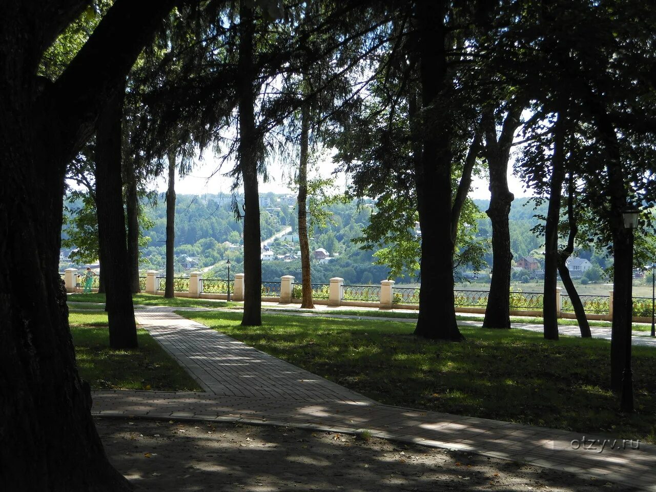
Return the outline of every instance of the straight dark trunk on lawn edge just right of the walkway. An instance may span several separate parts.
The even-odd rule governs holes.
[[[262,324],[262,259],[257,164],[260,137],[255,127],[255,73],[253,70],[253,10],[239,2],[239,171],[244,186],[244,312],[241,324]]]

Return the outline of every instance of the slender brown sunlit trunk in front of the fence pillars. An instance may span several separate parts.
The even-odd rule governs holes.
[[[310,239],[308,238],[308,140],[310,138],[310,108],[303,104],[300,115],[300,162],[298,163],[298,243],[303,300],[301,308],[314,309],[312,302],[312,271],[310,269]]]

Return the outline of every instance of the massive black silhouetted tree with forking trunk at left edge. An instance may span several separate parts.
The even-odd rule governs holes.
[[[75,369],[66,295],[56,269],[66,163],[89,140],[172,1],[117,0],[54,81],[43,52],[84,1],[7,3],[0,17],[0,476],[9,490],[123,490]],[[24,293],[29,291],[30,296]]]

